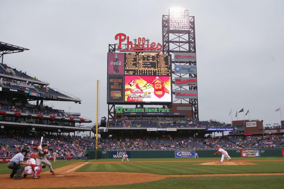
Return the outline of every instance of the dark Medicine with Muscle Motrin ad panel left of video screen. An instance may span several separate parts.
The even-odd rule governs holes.
[[[108,76],[108,102],[124,102],[123,76]]]

